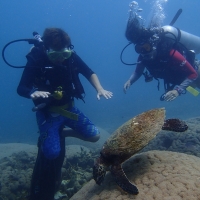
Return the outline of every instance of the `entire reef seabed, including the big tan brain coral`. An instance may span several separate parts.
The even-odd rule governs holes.
[[[63,200],[68,200],[71,197],[70,200],[89,200],[89,197],[84,198],[87,192],[91,192],[93,200],[106,198],[156,200],[159,199],[158,196],[162,196],[160,199],[163,200],[200,199],[196,190],[200,185],[198,158],[200,157],[200,117],[189,119],[186,122],[189,126],[186,132],[161,131],[140,151],[141,154],[130,159],[130,167],[127,164],[129,161],[124,163],[123,167],[128,178],[139,189],[138,196],[130,196],[120,191],[109,173],[100,187],[91,180],[94,158],[99,155],[103,142],[109,136],[108,133],[104,134],[98,145],[95,146],[95,143],[93,146],[89,146],[92,148],[84,147],[87,146],[87,143],[84,143],[84,146],[66,146],[66,159],[62,168],[63,181],[57,199],[61,197]],[[26,200],[37,147],[27,144],[1,144],[0,147],[2,149],[0,155],[0,200]],[[91,151],[90,149],[95,150]],[[162,152],[144,153],[150,150],[162,150]],[[16,153],[13,154],[13,152]],[[131,172],[132,170],[133,172]],[[81,189],[82,186],[84,187]],[[174,190],[176,190],[175,193]],[[193,192],[191,192],[192,190]],[[79,192],[75,194],[77,191]],[[82,195],[81,198],[80,195]],[[183,196],[184,198],[182,198]]]

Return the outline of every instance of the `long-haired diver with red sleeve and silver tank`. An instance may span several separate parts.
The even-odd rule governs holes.
[[[121,57],[124,64],[136,65],[124,84],[125,93],[144,75],[146,82],[158,81],[158,90],[159,79],[164,80],[165,93],[161,95],[161,101],[172,101],[185,94],[186,90],[193,95],[198,94],[192,87],[200,88],[199,61],[195,60],[195,54],[200,53],[200,37],[173,27],[181,12],[179,9],[170,25],[150,28],[141,24],[137,13],[130,13],[125,36],[130,41],[128,45],[134,44],[139,57],[133,64],[124,63]]]

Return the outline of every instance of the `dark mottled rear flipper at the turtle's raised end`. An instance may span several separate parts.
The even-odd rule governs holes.
[[[188,129],[187,124],[180,119],[167,119],[164,121],[162,130],[184,132]]]

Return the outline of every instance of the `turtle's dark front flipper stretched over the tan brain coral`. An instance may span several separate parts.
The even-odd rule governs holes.
[[[110,169],[112,175],[115,178],[115,182],[119,187],[121,187],[125,192],[130,194],[138,194],[139,191],[135,185],[133,185],[126,177],[121,165],[113,165]]]

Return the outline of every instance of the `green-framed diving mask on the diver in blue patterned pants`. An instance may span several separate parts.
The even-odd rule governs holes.
[[[49,60],[53,63],[62,63],[64,60],[68,59],[72,54],[72,51],[68,48],[64,48],[60,51],[54,51],[52,49],[47,51],[47,56]]]

